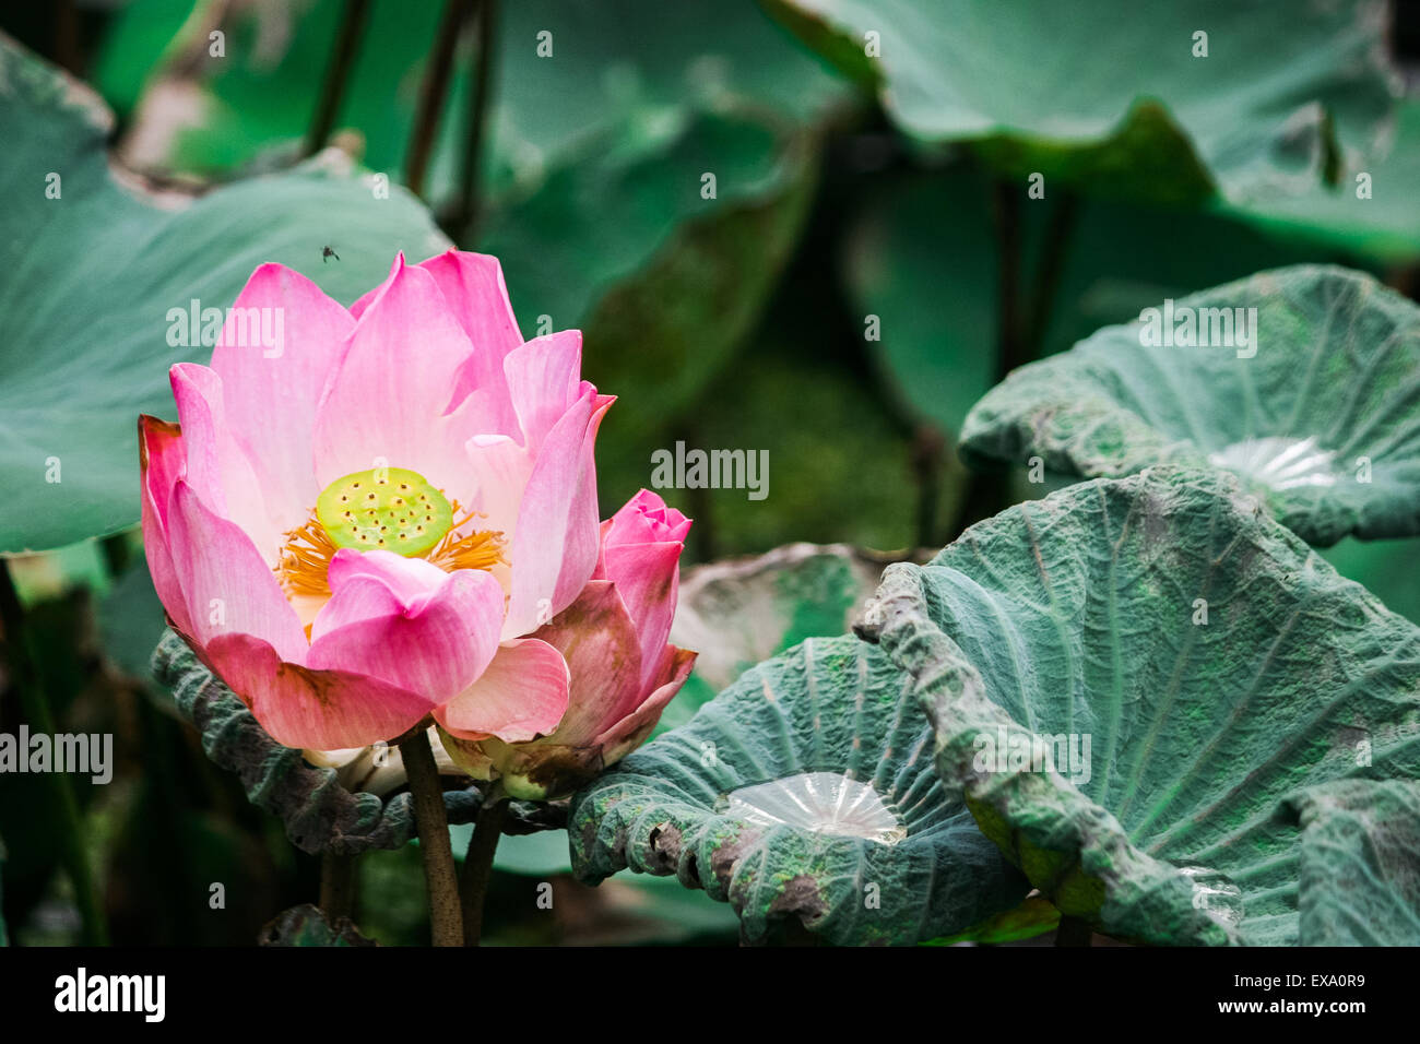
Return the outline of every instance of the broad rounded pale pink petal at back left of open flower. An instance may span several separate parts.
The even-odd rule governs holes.
[[[231,430],[266,491],[271,523],[285,533],[305,521],[324,489],[315,482],[314,418],[355,320],[311,280],[281,264],[251,273],[237,308],[280,310],[281,315],[278,355],[251,344],[250,335],[237,344],[229,320],[212,368],[222,378]]]

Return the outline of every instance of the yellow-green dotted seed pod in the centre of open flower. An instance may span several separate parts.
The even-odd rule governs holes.
[[[375,467],[337,479],[315,501],[315,517],[337,548],[393,551],[417,558],[453,528],[453,506],[419,472]]]

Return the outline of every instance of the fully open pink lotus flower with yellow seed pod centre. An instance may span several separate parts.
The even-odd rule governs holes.
[[[278,351],[244,334],[271,314]],[[261,266],[212,366],[173,366],[180,428],[139,422],[173,628],[291,747],[430,714],[551,733],[568,663],[530,635],[605,568],[592,445],[612,398],[579,372],[578,331],[523,341],[493,257],[400,256],[349,310]]]

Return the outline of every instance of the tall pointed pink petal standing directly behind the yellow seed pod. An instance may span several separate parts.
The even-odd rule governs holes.
[[[320,487],[352,472],[408,467],[467,500],[460,412],[444,415],[454,374],[473,347],[433,277],[396,263],[361,314],[315,419]]]

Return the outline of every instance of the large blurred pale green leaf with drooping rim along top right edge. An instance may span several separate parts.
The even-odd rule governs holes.
[[[1187,0],[770,0],[929,143],[1109,196],[1198,202],[1315,185],[1383,141],[1399,92],[1387,11]],[[1194,57],[1194,33],[1207,57]],[[873,34],[873,36],[869,36]],[[870,50],[876,48],[878,55]]]

